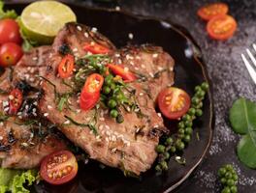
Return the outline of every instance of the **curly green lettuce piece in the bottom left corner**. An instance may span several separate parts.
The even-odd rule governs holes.
[[[24,186],[32,185],[39,179],[36,170],[12,170],[0,168],[0,193],[29,193]]]

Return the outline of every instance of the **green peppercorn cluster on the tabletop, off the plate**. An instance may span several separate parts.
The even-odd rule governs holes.
[[[238,174],[231,164],[222,166],[218,170],[218,177],[223,186],[221,193],[237,193],[238,192]]]

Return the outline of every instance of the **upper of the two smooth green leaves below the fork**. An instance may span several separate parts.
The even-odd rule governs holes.
[[[236,133],[256,130],[256,104],[245,98],[236,100],[230,110],[230,122]]]

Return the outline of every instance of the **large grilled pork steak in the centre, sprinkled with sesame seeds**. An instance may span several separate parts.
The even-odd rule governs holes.
[[[109,62],[122,63],[124,68],[131,69],[139,78],[128,83],[128,91],[124,92],[134,98],[137,107],[134,111],[120,108],[122,124],[117,124],[109,116],[109,110],[102,105],[89,111],[81,110],[80,93],[75,92],[76,77],[73,75],[62,79],[57,73],[63,58],[60,47],[68,45],[79,60],[84,55],[90,55],[82,48],[85,42],[108,47],[111,50]],[[45,95],[40,102],[40,109],[48,120],[57,124],[92,159],[137,175],[149,169],[157,156],[155,147],[159,136],[166,130],[161,116],[155,112],[154,100],[161,88],[173,83],[171,70],[174,60],[160,47],[144,45],[117,51],[102,35],[75,23],[67,24],[59,32],[53,42],[51,56],[43,83]],[[98,65],[104,65],[104,62]],[[77,62],[77,71],[80,70],[79,66]],[[76,75],[77,71],[74,72]],[[156,72],[158,75],[155,75]],[[60,96],[68,96],[68,102],[61,110]]]

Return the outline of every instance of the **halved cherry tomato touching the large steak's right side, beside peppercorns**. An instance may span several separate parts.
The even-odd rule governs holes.
[[[181,89],[171,87],[158,95],[158,107],[163,115],[171,120],[183,116],[190,107],[190,96]]]

